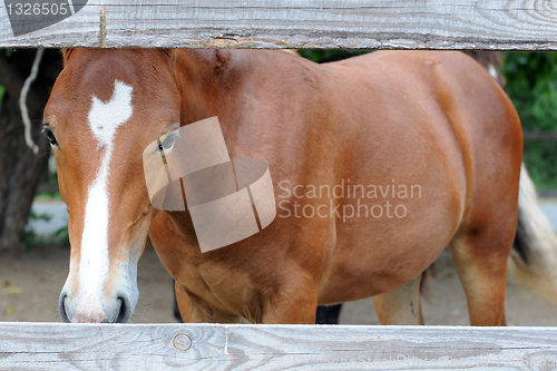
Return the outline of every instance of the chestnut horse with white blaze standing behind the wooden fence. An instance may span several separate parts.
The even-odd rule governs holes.
[[[185,322],[314,323],[317,304],[377,295],[390,307],[381,322],[400,323],[409,310],[393,302],[449,245],[471,324],[505,323],[521,128],[471,58],[380,51],[320,66],[281,51],[75,49],[63,60],[45,134],[69,212],[65,321],[129,321],[148,235]],[[277,216],[202,253],[187,211],[152,206],[143,152],[214,116],[231,157],[268,164]]]

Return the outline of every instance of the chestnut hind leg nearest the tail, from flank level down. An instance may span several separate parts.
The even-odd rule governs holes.
[[[494,248],[497,246],[504,248]],[[511,246],[512,238],[501,241],[494,231],[476,231],[451,242],[450,250],[465,289],[471,325],[505,325],[507,258]]]

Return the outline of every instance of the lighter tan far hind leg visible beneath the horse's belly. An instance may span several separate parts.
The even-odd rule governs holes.
[[[423,324],[420,303],[420,274],[391,292],[373,296],[381,324]]]

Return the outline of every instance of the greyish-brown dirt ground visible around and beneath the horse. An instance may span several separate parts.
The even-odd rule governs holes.
[[[58,295],[68,274],[68,247],[0,255],[0,321],[59,322]],[[136,323],[176,322],[170,277],[154,251],[147,251],[138,269],[139,303],[131,319]],[[436,277],[429,280],[429,299],[422,300],[427,324],[468,324],[465,294],[450,254],[436,262]],[[557,305],[550,305],[509,279],[507,286],[509,325],[557,325]],[[373,300],[346,303],[343,324],[378,324]]]

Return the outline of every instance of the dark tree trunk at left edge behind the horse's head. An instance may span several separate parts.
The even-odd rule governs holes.
[[[35,50],[17,50],[11,57],[0,53],[0,84],[6,88],[0,111],[0,251],[20,247],[40,175],[48,165],[49,144],[40,135],[42,109],[58,75],[60,58],[58,51],[46,50],[39,77],[28,95],[31,137],[40,148],[35,155],[25,141],[18,104],[35,53]],[[45,64],[48,65],[43,67]],[[58,68],[52,68],[52,64]]]

